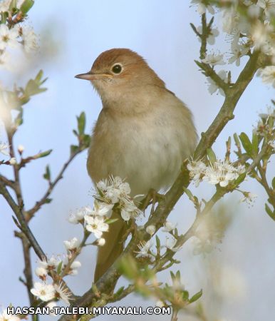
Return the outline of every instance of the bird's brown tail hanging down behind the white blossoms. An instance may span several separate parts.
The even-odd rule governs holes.
[[[96,282],[113,265],[115,260],[123,252],[123,235],[125,223],[121,216],[113,212],[112,218],[118,218],[109,225],[108,232],[103,233],[105,245],[98,247],[98,258],[95,266],[94,281]]]

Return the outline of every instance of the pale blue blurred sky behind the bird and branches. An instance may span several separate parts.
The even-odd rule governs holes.
[[[24,124],[15,136],[15,146],[24,145],[25,156],[53,148],[48,158],[42,158],[21,170],[21,182],[26,208],[41,198],[47,188],[42,175],[50,164],[52,176],[68,159],[69,146],[76,143],[72,130],[76,128],[76,116],[85,111],[87,131],[100,112],[101,103],[88,81],[74,76],[90,69],[95,58],[111,48],[129,48],[145,57],[149,65],[167,84],[167,88],[185,101],[194,114],[197,132],[206,131],[222,105],[223,97],[209,95],[205,77],[198,71],[194,59],[199,56],[199,42],[190,22],[199,25],[199,15],[190,1],[157,0],[82,0],[36,1],[29,14],[28,23],[40,35],[41,49],[31,62],[21,66],[17,73],[0,71],[1,82],[9,86],[14,81],[23,85],[28,78],[43,69],[48,77],[48,91],[34,96],[24,107]],[[215,22],[221,31],[220,19]],[[217,40],[213,49],[225,51],[227,42]],[[26,68],[27,66],[27,68]],[[233,78],[241,68],[230,66]],[[20,71],[20,72],[19,72]],[[23,72],[24,71],[24,72]],[[214,144],[219,158],[224,157],[225,141],[233,133],[251,133],[256,126],[258,113],[266,110],[274,92],[264,86],[260,78],[254,78],[235,111],[235,118]],[[81,228],[67,221],[71,210],[92,204],[90,178],[86,173],[84,151],[70,165],[63,180],[55,188],[53,202],[44,205],[31,221],[31,228],[48,255],[65,253],[63,240],[81,237]],[[270,173],[274,173],[273,164]],[[1,169],[2,170],[2,169]],[[8,170],[5,168],[7,175]],[[1,171],[2,173],[2,171]],[[194,244],[190,240],[177,253],[182,264],[182,280],[190,293],[204,290],[202,302],[209,320],[259,321],[271,320],[275,313],[275,223],[264,211],[266,195],[253,181],[242,186],[256,193],[258,198],[249,208],[239,203],[242,195],[228,195],[223,204],[234,216],[225,233],[222,244],[209,255],[192,254]],[[209,198],[214,188],[203,183],[191,187],[199,197]],[[170,215],[184,232],[192,223],[194,209],[182,198]],[[0,198],[0,306],[10,302],[14,306],[28,305],[24,286],[19,282],[23,258],[21,243],[14,238],[11,210]],[[85,248],[80,257],[82,267],[77,277],[68,277],[68,284],[77,295],[90,287],[95,266],[95,248]],[[33,254],[33,267],[36,256]],[[36,277],[34,277],[36,280]],[[168,273],[160,275],[167,282]],[[124,282],[124,281],[123,281]],[[118,302],[120,306],[152,306],[153,300],[143,300],[129,295]],[[150,316],[101,316],[98,320],[153,320]],[[48,320],[43,317],[42,320]],[[50,319],[53,319],[51,317]],[[160,317],[170,320],[169,316]],[[180,315],[179,320],[196,320]]]

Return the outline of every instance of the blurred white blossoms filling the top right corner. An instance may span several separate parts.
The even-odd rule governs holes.
[[[197,7],[199,14],[215,14],[212,1],[192,0],[192,5]],[[253,49],[260,50],[269,56],[271,65],[275,63],[275,39],[272,19],[275,14],[275,0],[242,0],[228,1],[229,6],[220,6],[222,15],[222,30],[227,34],[230,42],[228,63],[240,65],[241,58],[251,54]],[[240,9],[242,8],[242,9]],[[197,28],[202,34],[202,26]],[[211,27],[207,43],[214,44],[215,37],[219,35],[217,29]],[[200,39],[199,39],[200,40]],[[202,62],[212,66],[224,64],[223,54],[207,54]],[[223,73],[225,71],[222,71]],[[271,83],[275,87],[275,66],[266,66],[258,73],[264,83]],[[209,80],[209,79],[208,79]],[[214,93],[210,83],[209,91]]]

